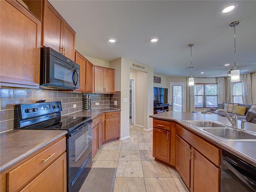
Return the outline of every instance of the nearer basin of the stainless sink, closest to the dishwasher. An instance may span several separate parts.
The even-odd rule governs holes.
[[[256,132],[242,131],[235,128],[203,128],[202,130],[220,140],[256,140]]]

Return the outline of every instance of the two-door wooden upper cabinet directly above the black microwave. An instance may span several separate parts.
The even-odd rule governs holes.
[[[60,14],[44,1],[42,45],[51,47],[74,61],[76,33]]]

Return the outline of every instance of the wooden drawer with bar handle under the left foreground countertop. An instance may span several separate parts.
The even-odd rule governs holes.
[[[66,138],[7,173],[7,191],[17,191],[66,151]]]

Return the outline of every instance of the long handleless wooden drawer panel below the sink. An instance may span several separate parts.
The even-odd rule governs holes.
[[[176,125],[176,134],[186,140],[217,166],[220,166],[220,149],[195,136],[185,128]]]

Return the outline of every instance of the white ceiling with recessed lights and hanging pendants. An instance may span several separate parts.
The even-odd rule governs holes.
[[[256,72],[255,0],[235,1],[238,7],[228,14],[220,8],[234,1],[49,2],[75,30],[76,49],[84,56],[106,61],[125,57],[165,76],[190,76],[190,43],[195,44],[194,77],[226,76],[234,67],[234,28],[229,24],[241,20],[236,26],[236,67]],[[159,42],[150,43],[152,37]],[[108,38],[117,42],[108,43]]]

